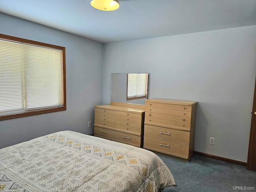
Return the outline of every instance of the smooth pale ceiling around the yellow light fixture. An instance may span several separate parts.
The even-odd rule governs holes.
[[[0,0],[0,12],[102,43],[256,25],[256,0],[119,0],[109,12],[90,1]]]

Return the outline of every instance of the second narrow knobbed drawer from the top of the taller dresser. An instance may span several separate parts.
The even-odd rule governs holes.
[[[179,110],[171,110],[171,109],[146,107],[146,112],[168,114],[168,115],[175,115],[175,116],[182,116],[182,117],[191,117],[191,111],[179,111]]]

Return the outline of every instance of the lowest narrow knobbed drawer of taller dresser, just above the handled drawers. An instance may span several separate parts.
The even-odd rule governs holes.
[[[178,122],[178,121],[170,121],[170,120],[164,120],[164,119],[145,117],[145,123],[147,122],[190,130],[190,123],[186,123],[186,122]]]

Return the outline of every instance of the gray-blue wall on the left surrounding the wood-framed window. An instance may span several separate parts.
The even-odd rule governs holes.
[[[102,44],[0,13],[0,33],[66,47],[67,110],[0,121],[0,148],[60,130],[92,134],[102,104]]]

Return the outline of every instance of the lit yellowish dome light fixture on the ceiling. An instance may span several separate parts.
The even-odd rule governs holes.
[[[113,11],[119,8],[118,0],[92,0],[91,6],[102,11]]]

